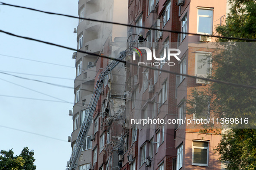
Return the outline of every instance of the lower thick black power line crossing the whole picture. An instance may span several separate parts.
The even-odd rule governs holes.
[[[37,42],[41,42],[41,43],[44,43],[44,44],[49,44],[49,45],[53,45],[53,46],[57,46],[57,47],[62,47],[62,48],[68,49],[68,50],[75,50],[77,52],[84,53],[84,54],[89,54],[89,55],[92,55],[92,56],[103,57],[103,58],[107,58],[107,59],[110,59],[110,60],[116,60],[116,61],[119,61],[120,63],[126,63],[126,64],[130,64],[130,65],[133,65],[133,66],[138,66],[137,64],[131,63],[131,62],[128,62],[128,61],[118,60],[116,58],[112,58],[112,57],[108,57],[108,56],[104,56],[104,55],[99,55],[99,54],[95,54],[95,53],[90,53],[90,52],[86,52],[86,51],[83,51],[83,50],[77,50],[75,48],[66,47],[66,46],[63,46],[63,45],[54,44],[54,43],[51,43],[51,42],[42,41],[42,40],[38,40],[38,39],[34,39],[34,38],[15,35],[13,33],[3,31],[3,30],[0,30],[0,32],[3,32],[7,35],[27,39],[27,40],[32,40],[32,41],[37,41]],[[153,69],[153,70],[158,70],[158,71],[162,71],[162,72],[167,72],[167,73],[174,74],[174,75],[179,75],[179,76],[186,76],[186,77],[190,77],[190,78],[193,78],[193,79],[202,79],[204,81],[216,82],[216,83],[220,83],[220,84],[231,85],[231,86],[235,86],[235,87],[250,88],[250,89],[256,90],[256,87],[251,86],[251,85],[243,85],[243,84],[237,84],[237,83],[233,83],[233,82],[224,82],[224,81],[220,81],[220,80],[216,80],[216,79],[207,79],[207,78],[203,78],[203,77],[190,76],[190,75],[187,75],[187,74],[181,74],[181,73],[178,73],[178,72],[172,72],[172,71],[168,71],[168,70],[164,70],[164,69],[157,69],[155,67],[150,67],[150,66],[140,66],[140,67]]]

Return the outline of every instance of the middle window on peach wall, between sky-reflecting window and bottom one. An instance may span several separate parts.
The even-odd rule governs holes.
[[[196,51],[195,61],[195,76],[206,77],[210,74],[211,53]]]

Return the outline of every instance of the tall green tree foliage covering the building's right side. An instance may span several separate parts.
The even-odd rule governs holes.
[[[255,0],[229,0],[230,13],[226,25],[217,27],[221,36],[256,39]],[[220,38],[225,50],[213,56],[212,75],[209,78],[225,82],[256,86],[256,44]],[[231,42],[232,41],[232,42]],[[235,43],[233,43],[235,42]],[[187,113],[205,113],[207,98],[211,96],[211,113],[218,117],[249,118],[246,128],[256,127],[256,90],[210,83],[205,91],[194,89],[193,98],[188,100]],[[198,106],[200,105],[200,106]],[[227,130],[216,152],[227,170],[256,169],[256,129]]]

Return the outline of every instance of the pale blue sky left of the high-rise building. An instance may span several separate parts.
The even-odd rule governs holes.
[[[78,1],[74,0],[1,2],[78,16]],[[77,48],[73,33],[77,25],[78,19],[0,5],[0,29],[16,35]],[[34,150],[36,170],[65,170],[71,156],[72,116],[68,110],[74,104],[73,52],[0,33],[0,150],[12,148],[14,155],[24,147]]]

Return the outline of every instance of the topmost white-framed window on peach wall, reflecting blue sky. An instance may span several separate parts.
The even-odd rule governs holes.
[[[198,8],[198,33],[211,35],[212,26],[213,26],[213,10]]]

